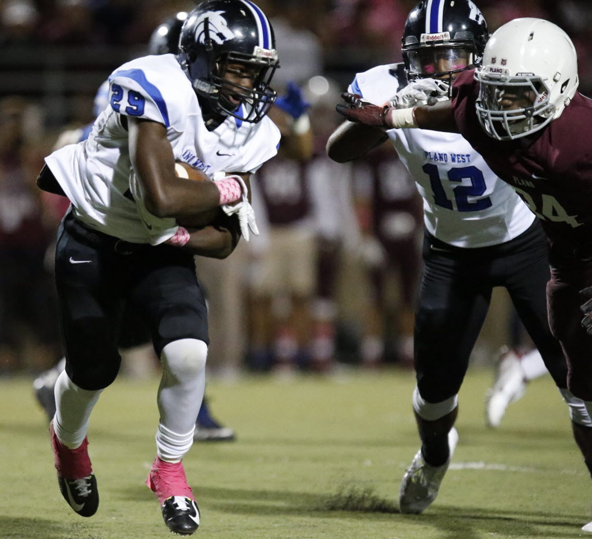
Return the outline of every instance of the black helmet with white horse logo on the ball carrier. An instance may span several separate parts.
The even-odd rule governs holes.
[[[274,104],[271,79],[279,68],[274,30],[250,0],[207,0],[189,13],[178,60],[197,95],[215,113],[257,123]],[[253,87],[226,80],[239,65],[253,73]]]

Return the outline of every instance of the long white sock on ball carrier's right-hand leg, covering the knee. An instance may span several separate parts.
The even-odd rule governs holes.
[[[158,389],[160,423],[156,450],[162,460],[180,461],[193,443],[195,421],[204,398],[208,347],[197,339],[170,342],[162,350]]]

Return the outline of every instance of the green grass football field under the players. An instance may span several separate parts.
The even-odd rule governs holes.
[[[590,479],[550,378],[530,384],[498,431],[483,421],[490,373],[469,373],[460,441],[423,514],[398,514],[398,486],[419,447],[410,373],[213,381],[232,444],[195,444],[185,470],[202,514],[195,537],[585,537]],[[101,505],[75,515],[59,493],[44,416],[28,379],[0,380],[0,538],[170,537],[143,481],[155,454],[157,380],[118,381],[91,419]],[[590,535],[592,537],[592,535]]]

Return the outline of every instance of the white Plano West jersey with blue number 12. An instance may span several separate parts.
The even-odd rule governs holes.
[[[384,105],[407,85],[402,64],[358,73],[349,92]],[[456,247],[498,245],[519,236],[535,216],[459,134],[424,129],[387,131],[423,197],[430,234]]]

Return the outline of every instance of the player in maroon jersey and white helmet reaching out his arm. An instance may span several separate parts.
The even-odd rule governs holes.
[[[461,133],[542,220],[549,239],[549,323],[568,361],[574,437],[592,473],[592,101],[577,92],[567,34],[535,18],[493,34],[480,69],[461,73],[452,100],[373,107],[347,94],[349,120]],[[586,289],[586,290],[583,290]],[[582,294],[580,291],[584,292]],[[584,299],[583,299],[584,296]],[[582,327],[584,326],[584,328]],[[592,522],[585,531],[592,531]]]

